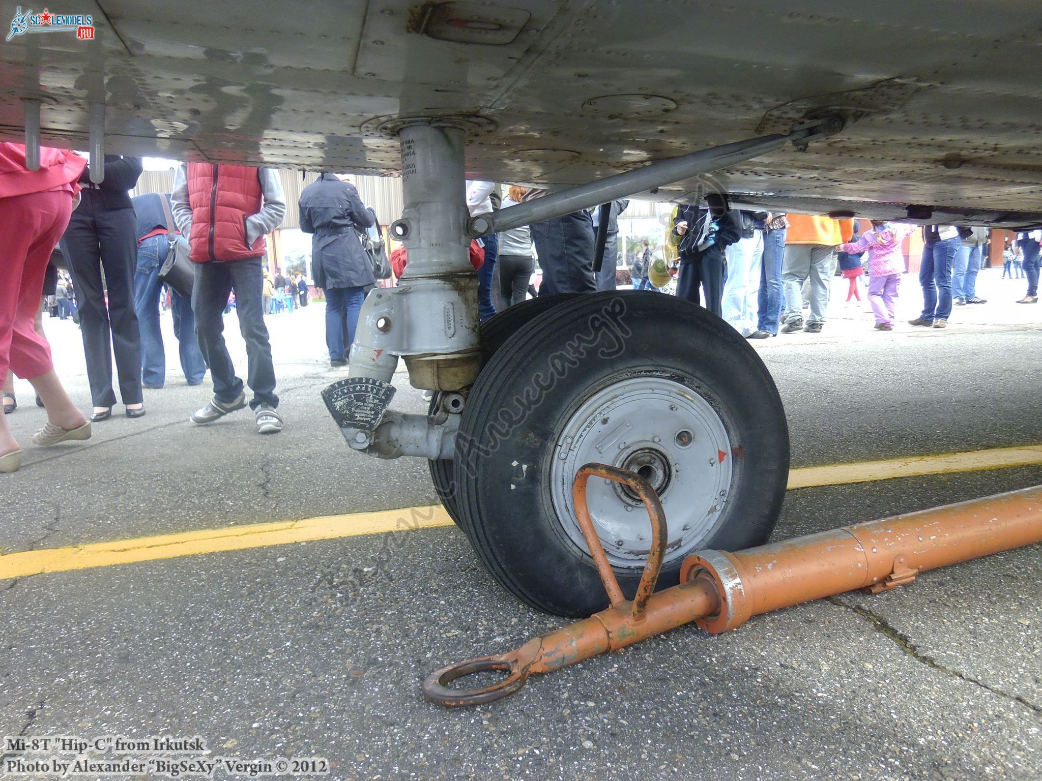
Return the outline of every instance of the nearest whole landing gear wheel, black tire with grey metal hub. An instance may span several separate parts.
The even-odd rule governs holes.
[[[457,512],[489,571],[529,605],[607,605],[575,521],[572,481],[595,461],[638,472],[669,528],[661,587],[705,548],[766,541],[789,471],[777,389],[719,318],[646,292],[591,294],[520,327],[471,389],[454,464]],[[593,479],[590,513],[631,596],[650,544],[640,500]]]

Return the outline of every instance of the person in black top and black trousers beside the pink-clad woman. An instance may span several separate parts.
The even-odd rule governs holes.
[[[94,184],[90,166],[79,179],[79,206],[61,236],[61,252],[76,288],[94,422],[113,417],[111,353],[127,418],[145,414],[141,391],[141,333],[134,313],[138,231],[128,193],[141,176],[141,157],[105,155],[105,179]],[[104,270],[104,282],[102,282]],[[105,293],[108,294],[107,306]]]

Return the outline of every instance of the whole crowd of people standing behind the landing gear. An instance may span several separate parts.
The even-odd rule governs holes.
[[[24,147],[0,144],[0,233],[8,253],[7,279],[0,285],[4,412],[17,408],[17,375],[30,381],[36,403],[47,411],[47,423],[32,436],[41,447],[90,438],[92,424],[110,419],[118,402],[127,418],[145,415],[143,388],[166,382],[159,312],[160,301],[169,301],[188,384],[199,385],[208,371],[214,385],[213,397],[191,421],[206,425],[248,404],[258,433],[281,431],[265,316],[306,306],[309,287],[299,271],[286,276],[264,267],[266,236],[286,215],[277,172],[184,162],[171,194],[131,198],[142,160],[106,155],[104,167],[104,178],[96,184],[80,154],[43,149],[39,170],[30,170]],[[493,182],[477,180],[466,186],[471,216],[546,194],[516,185],[503,193]],[[472,243],[481,320],[529,295],[614,289],[618,219],[627,205],[617,200]],[[382,246],[376,217],[349,177],[322,174],[303,190],[299,208],[300,227],[312,234],[315,285],[325,296],[330,366],[345,366],[365,296],[392,269],[400,276],[407,258],[403,248],[390,261],[374,251]],[[600,231],[604,245],[598,267],[601,219],[607,223]],[[743,210],[726,196],[710,194],[702,203],[674,209],[667,247],[674,256],[676,295],[748,338],[821,331],[837,271],[849,280],[848,300],[860,300],[860,278],[867,273],[874,327],[885,331],[894,326],[907,270],[902,243],[913,230],[872,220],[862,232],[853,220]],[[911,323],[944,328],[953,305],[985,303],[976,295],[976,276],[989,232],[948,225],[927,225],[922,231],[924,307]],[[1018,303],[1038,302],[1040,242],[1042,231],[1027,231],[1003,249],[1003,277],[1026,278],[1026,295]],[[52,262],[55,246],[68,275]],[[542,271],[538,293],[531,284],[537,260]],[[632,286],[655,291],[652,280],[667,269],[644,240],[631,258]],[[246,343],[245,382],[223,335],[231,305]],[[42,328],[45,308],[79,323],[93,402],[89,415],[72,403],[54,372]],[[17,470],[21,459],[21,447],[0,417],[0,472]]]

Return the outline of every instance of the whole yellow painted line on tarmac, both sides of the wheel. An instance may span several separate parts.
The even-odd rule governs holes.
[[[789,473],[789,489],[1039,463],[1042,463],[1042,445],[860,463],[835,463],[827,467],[804,467]],[[204,553],[243,551],[315,539],[338,539],[451,525],[451,519],[441,505],[428,505],[23,551],[0,555],[0,580],[49,572],[86,570]]]

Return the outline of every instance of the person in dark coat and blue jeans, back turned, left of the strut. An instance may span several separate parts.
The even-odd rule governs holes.
[[[312,236],[312,275],[326,295],[326,347],[334,367],[347,363],[367,285],[376,284],[355,228],[376,222],[358,191],[322,174],[300,194],[300,229]]]

